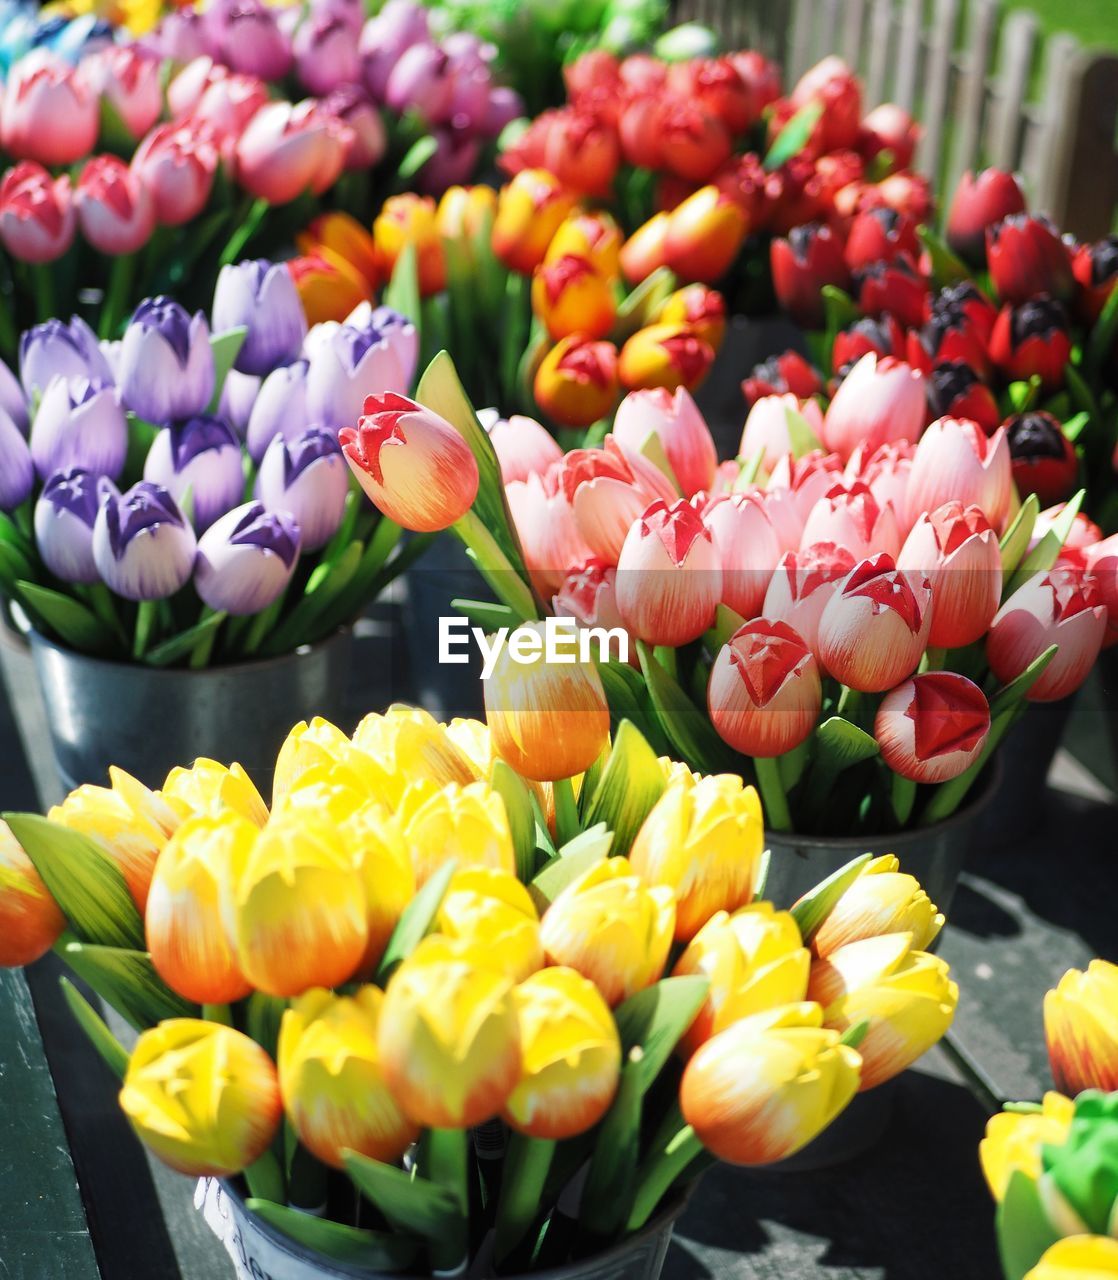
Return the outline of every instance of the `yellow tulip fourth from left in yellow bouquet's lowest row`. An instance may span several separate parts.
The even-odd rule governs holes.
[[[574,969],[543,969],[515,992],[520,1083],[505,1120],[533,1138],[572,1138],[610,1110],[621,1039],[598,988]]]

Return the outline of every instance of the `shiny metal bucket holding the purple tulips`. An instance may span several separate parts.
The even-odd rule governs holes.
[[[105,662],[32,631],[31,652],[61,783],[104,783],[109,765],[151,787],[175,764],[210,756],[242,764],[268,796],[292,724],[344,714],[352,635],[280,658],[202,671]]]

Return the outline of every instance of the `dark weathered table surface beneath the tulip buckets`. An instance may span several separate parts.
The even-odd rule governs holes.
[[[369,709],[362,672],[375,667],[378,637],[361,644],[355,721]],[[12,692],[33,696],[26,685]],[[1100,909],[1100,899],[1113,904],[1115,810],[1098,686],[1065,741],[1091,769],[1062,751],[1027,833],[995,832],[971,859],[941,942],[962,988],[955,1027],[899,1082],[881,1140],[830,1170],[715,1169],[677,1225],[668,1280],[996,1280],[976,1151],[986,1119],[1000,1100],[1049,1085],[1044,992],[1067,968],[1118,954],[1113,910]],[[38,808],[54,785],[45,741],[24,754],[0,689],[0,808]],[[54,961],[28,973],[38,1027],[22,982],[0,986],[0,1280],[92,1280],[99,1270],[102,1280],[227,1280],[191,1184],[143,1156],[111,1078],[68,1024]],[[41,1042],[59,1103],[36,1069]]]

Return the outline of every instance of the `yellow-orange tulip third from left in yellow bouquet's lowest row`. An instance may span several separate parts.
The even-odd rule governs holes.
[[[415,1124],[467,1129],[501,1114],[520,1079],[512,980],[426,938],[392,975],[378,1043],[384,1075]]]

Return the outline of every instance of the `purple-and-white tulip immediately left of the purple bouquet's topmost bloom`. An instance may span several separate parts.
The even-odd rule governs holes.
[[[101,357],[104,360],[104,357]],[[204,413],[214,394],[210,326],[172,298],[147,298],[120,343],[120,394],[127,408],[161,426]]]

